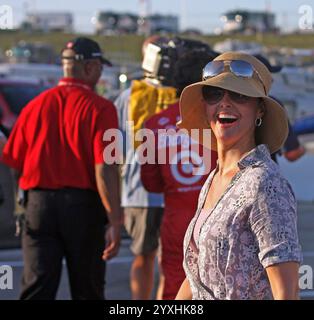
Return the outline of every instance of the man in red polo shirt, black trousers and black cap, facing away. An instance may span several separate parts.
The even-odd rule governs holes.
[[[65,258],[72,298],[104,299],[103,260],[118,253],[121,210],[103,134],[118,120],[94,88],[110,62],[87,38],[70,41],[61,59],[65,77],[23,109],[3,151],[28,194],[20,298],[54,299]]]

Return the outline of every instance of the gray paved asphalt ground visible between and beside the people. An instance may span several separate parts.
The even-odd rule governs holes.
[[[302,265],[314,269],[314,203],[299,203],[299,234],[303,248],[304,261]],[[106,296],[109,300],[128,300],[131,298],[129,290],[129,271],[132,254],[129,250],[130,240],[125,238],[118,257],[107,265]],[[0,290],[0,300],[17,299],[20,289],[20,278],[23,267],[21,250],[0,250],[0,266],[11,265],[13,267],[13,290]],[[156,271],[157,274],[157,271]],[[300,276],[302,276],[300,274]],[[301,290],[302,299],[314,299],[314,280],[307,281],[310,289]],[[66,268],[63,268],[57,299],[70,299]]]

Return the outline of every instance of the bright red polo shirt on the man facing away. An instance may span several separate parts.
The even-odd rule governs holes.
[[[23,110],[3,150],[21,172],[22,189],[97,190],[95,164],[103,163],[104,131],[118,128],[114,105],[83,81],[63,78]]]

